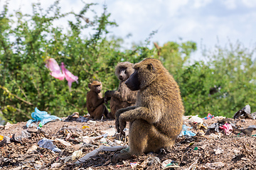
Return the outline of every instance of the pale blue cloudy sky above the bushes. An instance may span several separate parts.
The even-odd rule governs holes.
[[[168,41],[181,42],[193,40],[206,49],[213,49],[219,43],[224,46],[228,42],[240,40],[245,47],[256,46],[256,1],[253,0],[83,0],[95,2],[94,9],[102,13],[103,4],[112,13],[112,20],[119,25],[111,28],[112,34],[125,38],[127,47],[130,42],[144,41],[153,30],[158,30],[152,41],[163,45]],[[10,11],[21,8],[31,11],[31,3],[37,0],[10,0]],[[41,1],[43,8],[53,1]],[[0,0],[0,9],[4,4]],[[80,11],[82,1],[60,0],[63,12]],[[88,14],[87,17],[92,17]],[[55,25],[65,22],[57,21]],[[132,37],[126,38],[131,33]],[[129,43],[128,43],[129,42]]]

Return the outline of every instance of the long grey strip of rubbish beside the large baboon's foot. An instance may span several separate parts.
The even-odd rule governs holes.
[[[93,150],[92,152],[89,152],[88,154],[85,154],[84,157],[80,158],[77,162],[75,162],[76,164],[80,164],[82,162],[85,162],[87,159],[90,159],[90,157],[97,155],[99,152],[102,151],[116,151],[116,150],[120,150],[120,149],[124,149],[127,148],[127,146],[117,146],[117,147],[106,147],[106,146],[100,146],[99,148]]]

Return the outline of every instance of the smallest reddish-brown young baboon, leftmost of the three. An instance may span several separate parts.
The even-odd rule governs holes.
[[[100,119],[102,115],[108,115],[107,107],[104,105],[104,98],[102,98],[102,83],[100,81],[92,81],[88,84],[90,91],[86,96],[86,108],[90,117],[93,119]]]

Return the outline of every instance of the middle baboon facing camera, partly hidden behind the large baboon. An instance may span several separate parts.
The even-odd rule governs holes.
[[[133,64],[130,62],[121,62],[117,64],[115,74],[117,75],[119,87],[117,91],[106,91],[105,101],[110,100],[110,114],[109,118],[114,118],[115,113],[120,108],[127,108],[134,106],[137,97],[137,91],[131,91],[124,82],[134,72]],[[111,99],[110,99],[111,98]]]

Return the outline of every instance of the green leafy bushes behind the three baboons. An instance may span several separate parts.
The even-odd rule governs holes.
[[[33,4],[33,14],[16,11],[8,16],[8,6],[0,13],[0,117],[11,123],[26,121],[37,107],[41,111],[70,115],[74,111],[86,114],[87,84],[102,81],[104,93],[117,89],[119,81],[114,75],[118,62],[139,62],[154,57],[163,62],[181,89],[186,115],[204,117],[207,113],[231,117],[246,104],[255,109],[255,50],[247,50],[240,43],[228,48],[216,47],[208,52],[207,62],[190,64],[196,43],[166,42],[163,47],[148,47],[157,30],[145,42],[132,49],[122,49],[123,40],[110,37],[110,28],[117,23],[110,21],[104,12],[86,18],[96,4],[85,4],[80,12],[60,13],[58,1],[46,11],[41,4]],[[53,26],[65,16],[67,32]],[[14,22],[15,21],[15,22]],[[90,32],[88,36],[83,33]],[[70,72],[78,76],[68,91],[67,81],[50,76],[45,67],[48,58],[58,64],[64,62]]]

